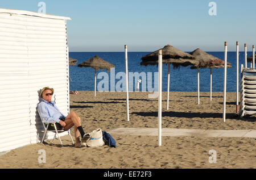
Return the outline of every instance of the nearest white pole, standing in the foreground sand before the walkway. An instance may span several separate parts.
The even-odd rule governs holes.
[[[162,49],[158,55],[158,146],[162,145]]]

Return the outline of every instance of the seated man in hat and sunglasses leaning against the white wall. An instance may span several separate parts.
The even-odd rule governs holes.
[[[59,108],[52,101],[53,89],[44,87],[40,92],[40,103],[38,104],[38,112],[43,122],[51,123],[56,122],[57,130],[67,131],[74,125],[74,132],[76,137],[76,147],[81,146],[79,136],[81,135],[82,141],[89,138],[89,134],[85,133],[81,126],[81,118],[71,111],[67,116],[63,115]],[[49,124],[48,130],[55,130],[53,124]]]

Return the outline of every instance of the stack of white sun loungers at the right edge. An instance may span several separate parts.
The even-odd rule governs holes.
[[[240,116],[256,114],[256,69],[241,68]]]

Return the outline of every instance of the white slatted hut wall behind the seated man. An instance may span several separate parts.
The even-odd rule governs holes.
[[[52,100],[69,112],[66,20],[1,11],[0,152],[42,139],[36,106],[44,86],[53,87]]]

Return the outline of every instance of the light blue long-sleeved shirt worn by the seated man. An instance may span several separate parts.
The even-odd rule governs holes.
[[[43,98],[40,99],[41,102],[38,104],[38,112],[40,117],[42,118],[43,122],[51,123],[51,122],[60,122],[61,118],[66,118],[59,108],[55,105],[53,101],[48,102],[45,101]]]

